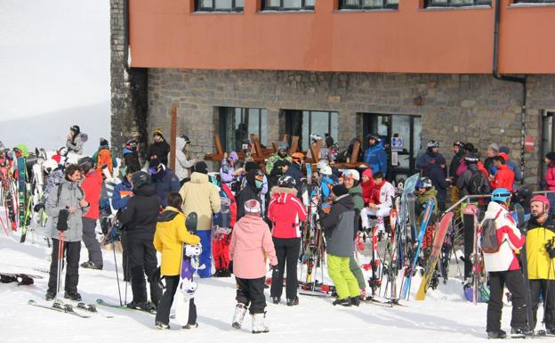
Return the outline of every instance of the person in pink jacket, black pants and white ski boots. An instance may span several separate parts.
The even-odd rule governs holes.
[[[269,227],[261,217],[258,200],[245,201],[245,216],[233,228],[229,243],[229,260],[233,262],[233,274],[237,282],[237,306],[232,327],[240,329],[247,306],[253,317],[253,333],[268,332],[264,324],[266,297],[266,257],[272,270],[277,268],[276,250]]]

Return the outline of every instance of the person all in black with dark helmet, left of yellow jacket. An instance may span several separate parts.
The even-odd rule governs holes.
[[[155,280],[157,253],[153,241],[162,203],[154,184],[150,184],[149,173],[144,171],[133,173],[131,183],[133,198],[127,201],[127,206],[119,215],[119,221],[125,225],[127,231],[126,245],[133,291],[133,301],[127,306],[153,310],[154,308],[147,303],[144,274],[147,274],[150,284],[152,304],[157,306],[158,300],[162,297],[162,290]]]

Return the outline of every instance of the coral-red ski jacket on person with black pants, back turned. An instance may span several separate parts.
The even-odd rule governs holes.
[[[301,223],[307,220],[307,212],[296,193],[294,188],[276,186],[271,189],[268,219],[273,225],[273,237],[301,237]]]

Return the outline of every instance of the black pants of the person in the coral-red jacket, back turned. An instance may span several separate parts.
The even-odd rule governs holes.
[[[277,255],[277,273],[272,273],[272,283],[269,289],[271,297],[281,298],[283,293],[283,275],[287,268],[286,297],[294,299],[297,297],[297,264],[299,261],[299,250],[301,249],[301,238],[276,238],[272,237]]]

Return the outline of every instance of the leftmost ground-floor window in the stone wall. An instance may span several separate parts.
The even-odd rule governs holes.
[[[265,109],[240,107],[220,108],[220,139],[225,151],[241,151],[250,143],[251,134],[260,137],[261,145],[267,144],[268,112]]]

